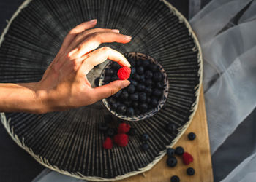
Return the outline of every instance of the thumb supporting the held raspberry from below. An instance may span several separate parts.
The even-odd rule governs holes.
[[[94,88],[93,92],[95,96],[95,102],[116,94],[116,92],[127,87],[129,84],[129,80],[116,80],[114,82],[110,82],[109,84]]]

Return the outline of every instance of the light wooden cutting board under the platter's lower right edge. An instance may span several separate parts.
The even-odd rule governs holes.
[[[195,141],[189,141],[187,135],[189,132],[195,132],[197,138]],[[184,165],[180,157],[176,167],[167,167],[167,156],[163,157],[151,170],[146,173],[135,175],[121,182],[169,182],[172,175],[178,175],[185,182],[213,182],[210,144],[208,138],[208,127],[206,122],[206,109],[203,97],[203,88],[200,90],[199,105],[187,131],[181,136],[176,146],[184,147],[194,157],[194,162],[189,165]],[[195,169],[195,175],[187,175],[187,167]]]

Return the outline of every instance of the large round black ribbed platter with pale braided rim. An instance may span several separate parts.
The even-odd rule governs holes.
[[[103,149],[105,136],[98,126],[110,112],[102,102],[42,115],[1,113],[1,122],[20,147],[50,169],[91,181],[118,180],[153,167],[187,129],[197,108],[200,46],[187,20],[167,1],[25,1],[0,39],[0,82],[39,81],[69,30],[94,18],[98,28],[115,28],[132,36],[129,44],[109,47],[150,55],[165,69],[169,82],[165,107],[146,120],[130,123],[139,135],[150,135],[150,149],[140,149],[139,135],[130,137],[127,147]],[[103,67],[91,71],[89,79],[99,76]],[[168,122],[178,130],[166,132]]]

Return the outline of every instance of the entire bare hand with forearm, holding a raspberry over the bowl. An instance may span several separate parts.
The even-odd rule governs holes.
[[[106,42],[126,44],[131,37],[122,35],[118,30],[90,29],[96,24],[97,20],[91,20],[69,31],[56,58],[50,63],[39,82],[9,84],[8,87],[7,84],[0,84],[0,92],[7,92],[0,94],[0,111],[26,111],[39,114],[62,111],[87,106],[127,87],[128,80],[116,80],[92,88],[86,78],[94,66],[107,59],[116,61],[121,66],[130,67],[129,62],[120,52],[110,47],[99,49],[97,47]],[[12,92],[12,95],[8,92]],[[19,95],[15,92],[24,94]],[[8,97],[7,100],[4,100],[5,97]]]

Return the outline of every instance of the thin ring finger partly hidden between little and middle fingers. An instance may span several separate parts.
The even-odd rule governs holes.
[[[83,31],[82,33],[79,33],[75,39],[72,41],[72,43],[69,45],[67,52],[75,49],[75,47],[78,47],[78,45],[86,39],[86,36],[89,36],[91,33],[97,33],[97,32],[114,32],[119,33],[119,30],[116,29],[107,29],[107,28],[94,28],[87,31]]]

